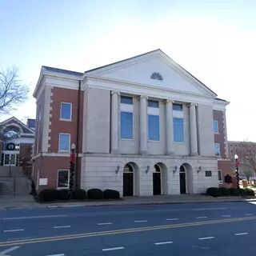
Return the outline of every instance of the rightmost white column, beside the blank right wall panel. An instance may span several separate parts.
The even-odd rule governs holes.
[[[197,117],[195,107],[197,104],[190,103],[190,154],[198,155],[198,134],[197,134]]]

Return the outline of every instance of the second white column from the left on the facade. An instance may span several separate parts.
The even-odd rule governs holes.
[[[139,97],[139,130],[140,130],[140,152],[147,154],[147,102],[148,97],[142,95]]]

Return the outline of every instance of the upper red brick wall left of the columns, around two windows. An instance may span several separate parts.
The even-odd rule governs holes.
[[[78,90],[70,90],[54,87],[52,89],[52,110],[50,111],[50,148],[48,152],[58,152],[58,134],[67,133],[70,134],[71,144],[76,144],[76,134],[77,134],[77,118],[78,118]],[[83,119],[83,92],[80,92],[80,117],[79,117],[79,145],[78,150],[82,152],[82,119]],[[60,119],[60,109],[61,102],[72,103],[72,121],[61,121]]]

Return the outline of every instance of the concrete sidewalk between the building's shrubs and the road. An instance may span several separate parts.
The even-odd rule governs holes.
[[[130,206],[154,204],[185,204],[185,203],[216,203],[216,202],[256,202],[256,198],[222,197],[211,198],[201,194],[159,195],[149,197],[131,197],[120,201],[87,201],[87,202],[52,202],[38,203],[30,195],[0,197],[0,210],[21,210],[34,208],[66,208],[82,206]]]

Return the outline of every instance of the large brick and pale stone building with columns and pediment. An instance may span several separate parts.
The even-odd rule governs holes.
[[[42,66],[34,98],[37,190],[69,187],[73,143],[86,190],[200,193],[230,172],[229,102],[162,50],[85,73]]]

